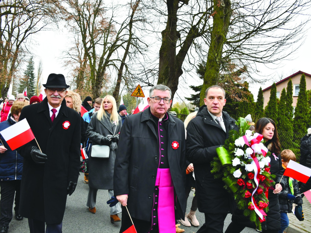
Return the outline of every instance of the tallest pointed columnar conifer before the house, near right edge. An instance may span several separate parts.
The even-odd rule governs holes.
[[[299,84],[299,94],[297,99],[297,105],[295,108],[294,117],[294,132],[298,137],[304,135],[308,129],[309,117],[308,117],[308,103],[306,94],[306,77],[301,75]],[[297,139],[298,140],[298,139]]]

